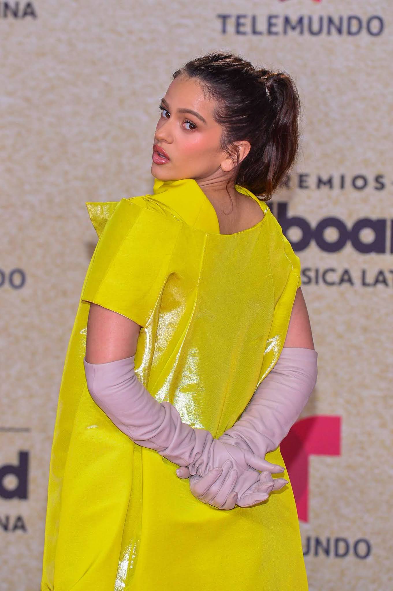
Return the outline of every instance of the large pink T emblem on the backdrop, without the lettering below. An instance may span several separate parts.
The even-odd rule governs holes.
[[[319,415],[297,421],[280,444],[301,521],[308,522],[308,457],[339,456],[340,434],[341,417]]]

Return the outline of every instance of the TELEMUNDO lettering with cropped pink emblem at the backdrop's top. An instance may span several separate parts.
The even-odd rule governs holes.
[[[288,0],[278,0],[287,3]],[[291,8],[297,2],[291,1]],[[277,2],[271,1],[271,5]],[[285,4],[286,5],[286,4]],[[318,6],[317,6],[318,5]],[[323,6],[329,2],[324,2]],[[321,0],[311,0],[311,9],[322,9]],[[334,35],[341,37],[356,37],[356,35],[371,35],[378,37],[384,31],[384,19],[381,15],[372,14],[368,17],[358,14],[217,14],[220,33],[222,35]]]

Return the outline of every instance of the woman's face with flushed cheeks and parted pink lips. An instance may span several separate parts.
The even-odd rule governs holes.
[[[178,76],[171,82],[160,104],[163,110],[154,134],[156,148],[165,150],[170,160],[155,163],[157,152],[153,150],[152,176],[163,181],[200,181],[228,175],[233,165],[220,148],[222,128],[213,119],[215,105],[215,101],[206,100],[195,79]]]

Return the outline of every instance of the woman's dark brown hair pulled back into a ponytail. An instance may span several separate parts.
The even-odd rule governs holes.
[[[213,118],[223,129],[221,148],[235,163],[228,182],[271,199],[298,150],[300,99],[293,79],[284,72],[256,70],[227,51],[188,61],[173,79],[180,75],[197,79],[206,98],[217,102]],[[233,142],[245,139],[251,149],[237,164],[239,149]]]

